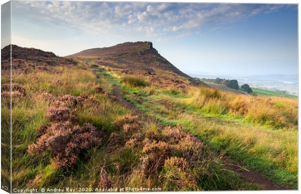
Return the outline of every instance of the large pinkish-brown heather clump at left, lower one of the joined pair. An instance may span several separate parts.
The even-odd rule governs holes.
[[[79,155],[92,144],[99,144],[96,129],[89,123],[83,126],[71,122],[51,123],[46,133],[35,144],[28,146],[31,155],[40,155],[46,150],[55,156],[53,162],[57,167],[69,168],[75,165]]]

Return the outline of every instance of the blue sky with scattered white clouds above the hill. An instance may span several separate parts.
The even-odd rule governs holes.
[[[66,56],[134,41],[151,41],[185,73],[297,74],[298,6],[12,1],[21,47]]]

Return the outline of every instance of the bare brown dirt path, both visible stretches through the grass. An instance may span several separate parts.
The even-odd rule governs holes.
[[[132,110],[135,114],[142,117],[141,119],[146,121],[155,121],[154,118],[150,116],[145,116],[143,111],[138,110],[134,104],[127,101],[123,98],[120,91],[117,89],[115,85],[113,87],[114,95],[116,96],[117,100],[124,104],[128,109]],[[156,122],[158,123],[158,122]],[[161,124],[160,124],[161,125]],[[162,126],[162,125],[161,125]],[[241,167],[239,163],[232,163],[227,162],[226,159],[223,160],[223,165],[228,169],[233,171],[238,177],[244,179],[247,182],[255,183],[259,186],[261,186],[264,190],[290,190],[290,188],[282,187],[274,184],[273,182],[269,181],[268,179],[264,178],[261,174],[256,173],[255,171],[245,169]]]

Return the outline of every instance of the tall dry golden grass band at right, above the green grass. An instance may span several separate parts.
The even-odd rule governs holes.
[[[298,101],[286,97],[251,97],[207,87],[191,87],[187,101],[206,113],[243,116],[246,121],[274,128],[296,128]]]

